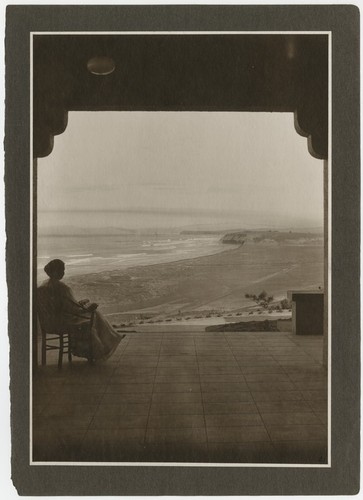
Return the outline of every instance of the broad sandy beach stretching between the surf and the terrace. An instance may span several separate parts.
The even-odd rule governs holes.
[[[323,249],[317,245],[228,246],[214,255],[66,276],[65,282],[78,299],[97,302],[115,324],[191,319],[210,324],[215,318],[222,323],[262,315],[246,293],[266,290],[277,303],[290,289],[318,289],[323,284]]]

